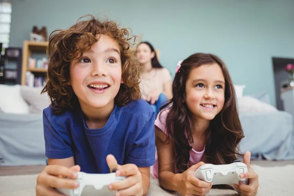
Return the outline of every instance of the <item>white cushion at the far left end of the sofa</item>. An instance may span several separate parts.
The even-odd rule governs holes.
[[[28,104],[21,95],[19,84],[14,86],[0,84],[0,108],[4,113],[28,114]]]

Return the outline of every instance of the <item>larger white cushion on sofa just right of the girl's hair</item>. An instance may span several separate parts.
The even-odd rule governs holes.
[[[239,112],[277,112],[272,105],[251,96],[243,96],[238,100]]]

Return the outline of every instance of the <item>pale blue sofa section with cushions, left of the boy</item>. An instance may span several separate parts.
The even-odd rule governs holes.
[[[0,84],[0,166],[46,164],[41,90]]]

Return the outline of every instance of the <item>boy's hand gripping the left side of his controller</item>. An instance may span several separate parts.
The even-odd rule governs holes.
[[[76,189],[79,184],[73,180],[80,171],[78,165],[67,168],[60,165],[49,165],[38,175],[36,196],[64,196],[54,188]],[[70,179],[66,179],[68,177]]]

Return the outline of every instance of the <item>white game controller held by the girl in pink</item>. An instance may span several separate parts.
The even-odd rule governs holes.
[[[234,188],[234,184],[239,184],[239,181],[243,184],[249,183],[248,179],[240,178],[240,173],[246,172],[248,172],[247,166],[241,162],[227,165],[205,164],[194,172],[194,176],[205,182],[213,182],[213,185],[227,184]],[[235,190],[240,194],[237,189]]]

